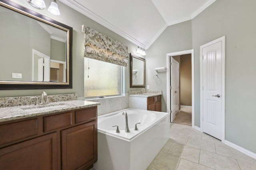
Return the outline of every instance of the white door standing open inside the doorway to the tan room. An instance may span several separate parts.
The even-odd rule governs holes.
[[[179,82],[179,63],[172,57],[171,61],[171,122],[175,119],[176,114],[179,112],[179,92],[180,92],[180,82]]]

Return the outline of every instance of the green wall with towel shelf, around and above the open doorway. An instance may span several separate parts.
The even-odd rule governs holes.
[[[191,20],[167,27],[146,50],[146,85],[151,90],[162,90],[162,111],[166,111],[166,72],[158,72],[160,79],[154,80],[154,68],[166,67],[166,53],[188,49],[192,49]]]

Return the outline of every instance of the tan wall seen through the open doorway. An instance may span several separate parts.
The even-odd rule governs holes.
[[[180,56],[180,105],[192,106],[191,54]]]

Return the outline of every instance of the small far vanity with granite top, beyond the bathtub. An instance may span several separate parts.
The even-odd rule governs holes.
[[[161,90],[129,91],[129,108],[162,111]]]

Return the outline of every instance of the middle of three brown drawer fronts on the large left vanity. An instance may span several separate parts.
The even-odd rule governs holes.
[[[62,113],[44,117],[44,132],[72,125],[72,113]]]

